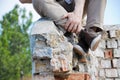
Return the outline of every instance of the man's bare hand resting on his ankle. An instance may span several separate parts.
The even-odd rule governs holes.
[[[64,28],[72,33],[79,33],[81,30],[81,16],[76,15],[74,12],[67,13],[63,16],[63,19],[67,18]]]

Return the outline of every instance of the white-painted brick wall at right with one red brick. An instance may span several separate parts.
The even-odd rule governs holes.
[[[102,52],[94,52],[99,65],[98,80],[120,80],[120,25],[104,26],[104,29],[107,35],[98,50]]]

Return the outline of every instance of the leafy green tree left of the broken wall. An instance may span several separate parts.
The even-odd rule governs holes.
[[[3,16],[0,34],[0,80],[19,80],[21,71],[31,73],[31,55],[27,29],[32,14],[18,5]]]

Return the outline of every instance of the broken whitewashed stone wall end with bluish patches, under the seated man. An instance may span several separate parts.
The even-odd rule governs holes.
[[[38,21],[31,31],[31,51],[35,70],[33,73],[44,70],[47,64],[52,67],[53,72],[68,72],[72,70],[72,48],[67,38],[60,33],[52,21]],[[38,63],[34,60],[42,59]],[[41,64],[43,63],[43,64]],[[43,65],[43,66],[42,66]],[[46,71],[48,72],[48,71]]]

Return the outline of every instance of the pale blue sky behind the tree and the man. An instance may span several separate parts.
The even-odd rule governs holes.
[[[21,8],[25,7],[28,12],[31,11],[33,13],[33,21],[40,18],[32,4],[21,4],[19,0],[0,0],[0,20],[2,20],[2,16],[12,10],[16,4],[19,4]],[[104,25],[115,24],[120,24],[120,0],[107,0]]]

